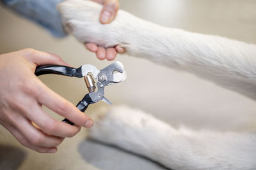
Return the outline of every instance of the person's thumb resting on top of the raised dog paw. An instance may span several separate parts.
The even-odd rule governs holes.
[[[101,24],[109,24],[116,17],[116,13],[119,9],[118,0],[105,0],[104,6],[100,12]]]

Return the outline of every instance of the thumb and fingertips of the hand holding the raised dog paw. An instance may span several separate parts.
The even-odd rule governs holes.
[[[102,11],[100,12],[100,22],[101,24],[109,24],[116,17],[116,13],[119,9],[118,0],[92,0],[97,3],[103,4]],[[96,56],[100,60],[114,60],[118,53],[124,53],[125,49],[120,45],[115,47],[105,49],[102,46],[97,46],[94,43],[85,43],[85,46],[91,52],[95,52]]]

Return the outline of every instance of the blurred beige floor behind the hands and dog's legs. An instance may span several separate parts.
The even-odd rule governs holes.
[[[256,43],[256,1],[252,0],[121,0],[122,9],[166,27],[218,34]],[[0,53],[35,48],[58,53],[75,67],[109,62],[95,59],[83,45],[68,36],[55,39],[47,31],[0,6]],[[253,131],[256,129],[255,101],[147,60],[120,55],[127,81],[108,87],[106,97],[116,104],[127,104],[148,111],[175,127],[185,124],[193,129]],[[154,67],[154,69],[152,69]],[[156,82],[152,77],[158,77]],[[64,76],[41,77],[52,90],[76,104],[86,94],[83,80]],[[143,81],[141,81],[143,80]],[[0,80],[3,81],[3,80]],[[86,112],[93,114],[105,103]],[[51,111],[48,111],[54,117]],[[59,117],[58,117],[59,118]],[[19,145],[0,127],[0,169],[164,169],[150,160],[111,146],[86,141],[83,129],[66,139],[58,153],[40,154]]]

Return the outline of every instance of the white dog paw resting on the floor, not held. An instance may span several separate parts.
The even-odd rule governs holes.
[[[124,139],[140,139],[141,134],[151,131],[157,121],[151,115],[127,106],[112,107],[105,113],[100,111],[93,120],[95,124],[89,130],[89,137],[116,145]]]

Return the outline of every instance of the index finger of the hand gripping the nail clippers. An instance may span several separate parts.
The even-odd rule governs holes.
[[[38,79],[35,83],[35,89],[32,95],[39,104],[43,104],[50,110],[67,118],[76,125],[83,127],[92,127],[93,121],[88,115],[76,108],[72,103],[49,89],[42,81]]]

